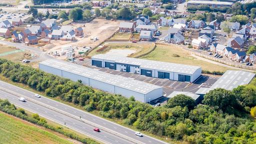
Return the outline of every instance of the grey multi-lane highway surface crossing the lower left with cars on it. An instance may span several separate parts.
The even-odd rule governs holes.
[[[0,81],[0,98],[8,99],[11,103],[33,113],[53,120],[59,124],[87,134],[106,144],[167,144],[149,136],[137,137],[134,131],[113,122],[94,116],[90,113],[75,109],[54,100],[34,96],[35,93]],[[24,97],[27,102],[19,102],[18,97]],[[81,119],[80,119],[81,117]],[[93,132],[93,128],[102,130]]]

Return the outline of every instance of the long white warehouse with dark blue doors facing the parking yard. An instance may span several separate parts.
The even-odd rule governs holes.
[[[194,82],[201,75],[201,67],[183,64],[152,61],[138,58],[98,54],[91,57],[91,65],[123,72],[170,79],[182,82]]]

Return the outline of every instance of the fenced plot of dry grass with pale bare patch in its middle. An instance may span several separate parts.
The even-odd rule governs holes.
[[[100,50],[100,47],[92,50],[88,56],[96,54],[107,53],[113,55],[113,52],[121,56],[135,57],[137,55],[149,52],[153,47],[153,43],[104,43],[104,49]],[[100,51],[99,51],[100,50]],[[116,55],[114,54],[114,55]]]

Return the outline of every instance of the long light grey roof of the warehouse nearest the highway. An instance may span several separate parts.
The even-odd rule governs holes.
[[[57,59],[50,59],[40,62],[39,64],[47,65],[56,69],[67,71],[76,75],[87,77],[96,81],[114,85],[123,89],[131,90],[141,94],[147,94],[155,89],[162,88],[160,86],[152,85],[146,82],[126,78],[123,76],[112,75],[101,72],[95,69],[90,69],[84,66],[73,64]]]

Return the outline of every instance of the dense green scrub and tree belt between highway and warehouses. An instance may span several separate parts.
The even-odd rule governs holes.
[[[256,106],[256,79],[233,91],[215,89],[204,96],[204,105],[179,96],[165,106],[152,107],[47,74],[29,66],[0,59],[0,73],[12,82],[44,92],[101,117],[183,144],[255,144],[256,123],[249,113]],[[174,104],[175,103],[175,104]],[[254,115],[253,115],[254,116]]]

